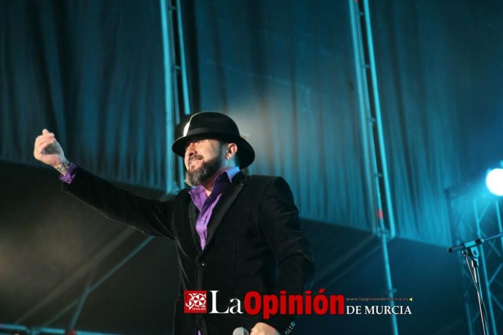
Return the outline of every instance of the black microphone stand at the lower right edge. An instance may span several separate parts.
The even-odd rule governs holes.
[[[498,238],[503,236],[503,233],[495,234],[486,238],[479,237],[477,239],[467,241],[458,245],[451,246],[448,250],[449,253],[461,251],[465,256],[466,264],[468,265],[468,270],[475,283],[475,288],[477,290],[478,298],[478,308],[480,309],[480,318],[482,321],[482,330],[484,335],[488,334],[489,322],[487,320],[487,313],[485,310],[484,300],[482,297],[482,286],[480,285],[480,276],[478,271],[478,245],[484,243],[485,241]]]

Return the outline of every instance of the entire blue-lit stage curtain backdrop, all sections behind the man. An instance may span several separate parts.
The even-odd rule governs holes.
[[[349,2],[182,2],[192,112],[232,116],[301,216],[372,230]],[[99,175],[164,189],[156,1],[2,2],[0,158],[56,132]],[[371,2],[397,233],[451,244],[445,189],[503,157],[498,1]],[[369,182],[370,181],[370,182]],[[170,181],[172,182],[172,181]]]

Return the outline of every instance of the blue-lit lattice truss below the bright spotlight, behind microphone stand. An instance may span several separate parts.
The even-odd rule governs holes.
[[[470,183],[448,190],[454,243],[503,232],[501,197],[495,197],[480,183]],[[497,335],[503,323],[503,238],[486,241],[479,246],[480,282],[489,321],[488,334]],[[476,291],[464,257],[459,255],[462,269],[463,297],[470,335],[482,334]]]

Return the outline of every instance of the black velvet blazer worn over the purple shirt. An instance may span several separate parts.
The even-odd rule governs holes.
[[[245,176],[239,172],[225,188],[208,224],[201,250],[195,229],[198,209],[190,189],[160,202],[134,196],[78,167],[63,190],[88,203],[105,216],[148,235],[175,239],[180,268],[180,293],[175,306],[175,335],[231,335],[237,327],[250,330],[265,322],[281,334],[297,322],[297,315],[244,312],[248,291],[261,294],[302,294],[315,273],[309,243],[300,225],[292,192],[284,179]],[[218,290],[217,307],[241,301],[242,314],[184,313],[184,290]],[[231,304],[231,305],[235,305]],[[212,306],[208,300],[208,311]],[[288,309],[287,309],[288,312]],[[288,333],[288,331],[287,331]]]

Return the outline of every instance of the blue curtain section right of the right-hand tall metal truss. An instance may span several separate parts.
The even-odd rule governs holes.
[[[397,233],[452,244],[445,190],[503,158],[503,4],[386,0],[371,12]]]

